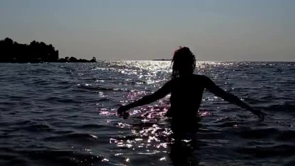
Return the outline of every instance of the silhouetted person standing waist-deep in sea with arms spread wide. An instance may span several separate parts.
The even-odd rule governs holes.
[[[263,113],[260,110],[227,93],[207,76],[193,74],[196,67],[196,58],[189,48],[180,47],[179,50],[176,50],[172,63],[173,71],[170,81],[155,93],[119,107],[118,114],[124,116],[127,114],[126,111],[131,108],[149,104],[171,93],[171,108],[166,115],[172,117],[171,127],[174,132],[185,132],[184,129],[195,128],[197,111],[202,101],[203,91],[208,89],[216,96],[245,108],[263,119]]]

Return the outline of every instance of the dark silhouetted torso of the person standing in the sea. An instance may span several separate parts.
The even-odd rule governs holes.
[[[168,114],[172,117],[171,127],[174,132],[187,133],[198,128],[197,111],[202,101],[204,90],[203,77],[191,74],[170,81],[171,108]]]

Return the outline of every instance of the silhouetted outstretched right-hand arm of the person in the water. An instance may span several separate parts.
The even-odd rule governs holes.
[[[210,90],[216,96],[221,97],[223,100],[226,100],[237,106],[245,108],[251,111],[253,114],[263,118],[263,113],[260,110],[257,110],[251,107],[250,105],[243,102],[242,100],[240,100],[238,97],[234,96],[233,94],[227,93],[226,91],[221,89],[219,86],[217,86],[210,78],[204,76],[204,81],[205,81],[205,88]]]

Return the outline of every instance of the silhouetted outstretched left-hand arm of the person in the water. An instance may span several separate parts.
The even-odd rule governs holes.
[[[117,112],[118,112],[118,114],[122,114],[131,108],[149,104],[151,102],[154,102],[156,100],[164,98],[170,92],[171,92],[171,81],[168,81],[155,93],[153,93],[151,95],[144,96],[143,98],[136,100],[134,102],[131,102],[130,104],[120,106],[119,109],[117,110]]]

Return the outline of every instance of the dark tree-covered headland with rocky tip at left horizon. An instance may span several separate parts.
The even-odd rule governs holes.
[[[96,62],[92,60],[77,59],[75,57],[66,57],[59,59],[59,52],[49,44],[44,42],[32,41],[28,44],[19,44],[10,38],[0,40],[0,63],[45,63],[45,62]]]

